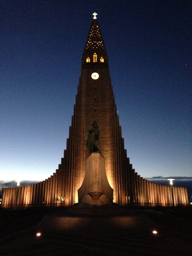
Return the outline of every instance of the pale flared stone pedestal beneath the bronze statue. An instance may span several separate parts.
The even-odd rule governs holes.
[[[100,153],[91,153],[86,161],[85,177],[78,189],[78,204],[105,205],[113,203],[113,188],[110,187],[105,160]]]

